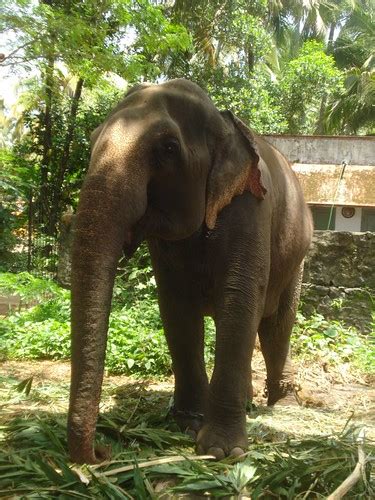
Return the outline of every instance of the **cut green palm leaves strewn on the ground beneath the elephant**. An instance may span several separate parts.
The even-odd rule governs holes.
[[[28,387],[26,394],[25,384],[20,386],[14,375],[0,379],[4,409],[0,496],[148,499],[195,493],[231,498],[251,495],[254,499],[325,498],[358,460],[358,428],[351,422],[339,419],[338,425],[337,415],[327,412],[326,422],[316,433],[315,420],[321,420],[316,411],[265,407],[249,415],[249,451],[240,461],[199,460],[194,457],[193,442],[177,432],[167,417],[170,387],[128,381],[119,388],[112,379],[104,387],[97,432],[98,442],[112,449],[111,461],[78,467],[66,456],[67,381],[39,381]],[[296,418],[304,420],[305,433],[295,432]],[[315,432],[308,431],[312,428]],[[371,460],[373,442],[367,441],[365,452]],[[370,474],[371,461],[350,498],[375,494]]]

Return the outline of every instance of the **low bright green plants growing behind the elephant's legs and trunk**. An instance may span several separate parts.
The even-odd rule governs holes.
[[[117,278],[107,343],[109,373],[137,376],[171,374],[171,361],[157,304],[156,284],[145,247]],[[28,273],[0,274],[0,293],[19,294],[29,309],[0,323],[2,354],[17,359],[68,359],[70,356],[70,293],[55,283]],[[215,326],[205,321],[205,358],[214,361]],[[375,370],[375,343],[354,328],[321,315],[297,316],[292,336],[297,358],[353,363],[363,372]]]

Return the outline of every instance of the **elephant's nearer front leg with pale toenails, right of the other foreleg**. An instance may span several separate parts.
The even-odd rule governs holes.
[[[254,294],[231,287],[216,315],[215,368],[209,390],[205,424],[198,434],[197,452],[221,459],[247,448],[246,403],[250,360],[259,324]],[[245,286],[246,289],[246,286]]]

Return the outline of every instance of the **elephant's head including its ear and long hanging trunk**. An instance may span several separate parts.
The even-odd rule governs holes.
[[[145,238],[179,240],[248,189],[265,189],[251,132],[195,84],[133,88],[93,133],[72,255],[72,384],[68,443],[93,463],[116,266]]]

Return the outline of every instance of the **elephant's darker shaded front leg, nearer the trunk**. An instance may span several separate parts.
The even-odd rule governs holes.
[[[204,323],[199,305],[180,293],[159,293],[159,305],[175,378],[173,415],[181,430],[195,437],[208,398]]]

